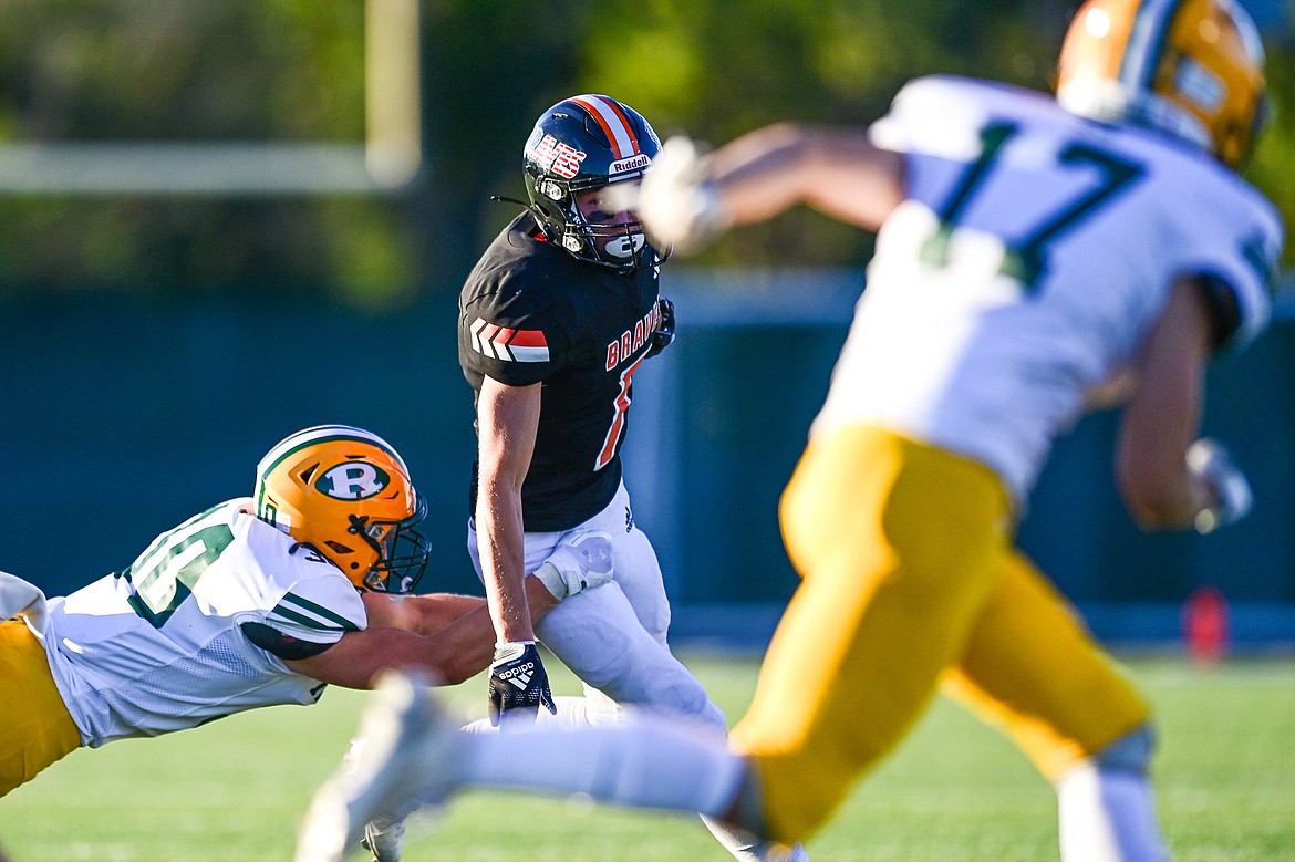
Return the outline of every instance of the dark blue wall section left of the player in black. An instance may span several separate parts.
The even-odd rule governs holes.
[[[431,502],[440,584],[464,553],[474,440],[453,296],[398,316],[302,303],[53,298],[0,305],[0,568],[62,593],[253,492],[260,457],[324,422],[372,428]]]

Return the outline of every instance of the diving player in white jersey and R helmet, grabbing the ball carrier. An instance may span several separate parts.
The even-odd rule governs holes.
[[[484,670],[484,599],[403,595],[427,566],[425,511],[387,443],[319,426],[271,449],[255,497],[71,595],[0,572],[0,796],[83,746],[313,704],[392,668],[445,683]],[[606,537],[574,535],[527,579],[531,612],[610,577]]]

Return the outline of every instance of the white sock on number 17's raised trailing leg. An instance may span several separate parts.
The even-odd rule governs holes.
[[[633,808],[728,812],[746,761],[714,730],[644,714],[579,730],[465,734],[464,783],[493,790],[584,793]]]

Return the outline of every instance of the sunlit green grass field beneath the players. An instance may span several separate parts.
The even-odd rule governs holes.
[[[736,718],[756,664],[685,655]],[[1210,672],[1131,660],[1156,705],[1158,801],[1178,862],[1295,858],[1295,660]],[[558,692],[574,694],[554,676]],[[484,682],[447,690],[479,717]],[[338,762],[364,703],[333,690],[161,739],[79,751],[0,800],[12,862],[287,862],[311,791]],[[817,861],[1055,859],[1053,795],[1002,738],[939,702],[809,850]],[[405,858],[615,862],[729,857],[688,817],[474,793],[411,826]]]

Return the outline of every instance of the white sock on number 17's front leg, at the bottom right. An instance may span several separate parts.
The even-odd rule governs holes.
[[[1151,782],[1084,764],[1057,782],[1062,862],[1167,862]]]

